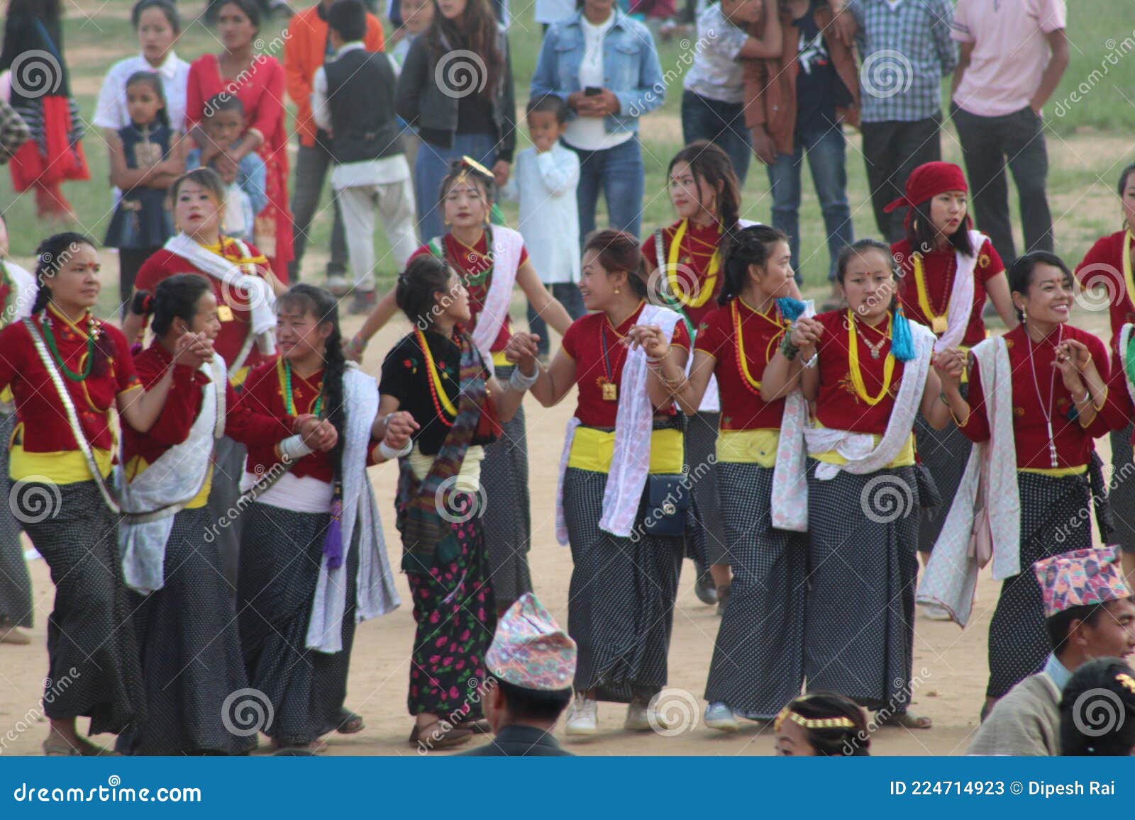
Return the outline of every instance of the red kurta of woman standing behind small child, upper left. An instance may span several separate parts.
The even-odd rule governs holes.
[[[239,81],[239,82],[237,82]],[[220,76],[216,54],[204,54],[190,66],[185,91],[185,125],[192,128],[204,117],[210,98],[236,93],[244,104],[244,125],[263,135],[257,149],[267,166],[268,204],[257,217],[257,242],[264,248],[276,277],[286,282],[287,263],[292,261],[292,212],[287,208],[287,127],[284,115],[284,66],[275,57],[258,56],[252,68],[236,81]]]

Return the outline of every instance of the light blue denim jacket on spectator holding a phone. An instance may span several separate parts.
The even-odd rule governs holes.
[[[536,74],[529,94],[556,94],[565,100],[579,84],[579,67],[583,61],[583,28],[577,11],[548,28],[536,61]],[[619,8],[615,23],[603,37],[603,86],[619,98],[619,113],[604,117],[604,128],[638,130],[638,118],[662,105],[666,99],[666,82],[658,64],[658,52],[649,29],[631,19]],[[572,111],[571,117],[575,117]]]

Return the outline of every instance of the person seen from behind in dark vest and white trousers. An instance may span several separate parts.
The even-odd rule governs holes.
[[[375,208],[401,271],[418,247],[414,192],[394,113],[394,69],[385,54],[363,44],[367,9],[361,0],[338,0],[327,25],[336,53],[316,70],[311,110],[316,125],[331,134],[331,187],[343,210],[354,279],[351,312],[368,313],[376,304]]]

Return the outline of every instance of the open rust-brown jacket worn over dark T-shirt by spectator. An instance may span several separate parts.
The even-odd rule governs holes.
[[[771,5],[771,3],[770,3]],[[824,44],[832,58],[835,74],[851,92],[855,101],[849,108],[836,109],[836,115],[851,126],[859,125],[859,74],[855,54],[840,42],[831,28],[832,12],[826,8],[815,11],[816,26],[824,32]],[[749,34],[760,36],[763,20],[749,28]],[[776,143],[776,152],[791,154],[796,141],[796,75],[800,71],[797,53],[800,29],[792,25],[792,15],[781,11],[784,48],[775,59],[742,60],[745,64],[745,125],[764,126]]]

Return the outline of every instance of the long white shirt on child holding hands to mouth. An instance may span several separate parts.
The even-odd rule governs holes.
[[[513,172],[520,200],[520,235],[545,285],[579,281],[579,155],[560,143],[524,149]]]

